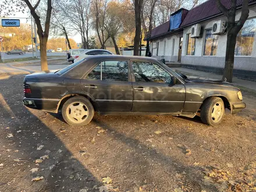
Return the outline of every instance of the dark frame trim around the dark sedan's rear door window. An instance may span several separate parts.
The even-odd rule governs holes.
[[[102,59],[101,61],[97,62],[97,64],[93,65],[91,69],[89,69],[86,73],[84,73],[81,79],[83,80],[90,80],[90,81],[102,81],[102,62],[104,61],[126,61],[128,65],[128,81],[106,81],[106,82],[131,82],[131,70],[130,70],[130,59]],[[101,63],[101,79],[86,79],[88,74]]]

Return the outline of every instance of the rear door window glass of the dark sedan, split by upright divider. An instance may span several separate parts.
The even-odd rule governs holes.
[[[86,79],[102,79],[102,81],[128,81],[128,62],[102,61],[88,74]]]

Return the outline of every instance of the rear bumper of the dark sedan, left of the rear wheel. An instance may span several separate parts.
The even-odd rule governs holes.
[[[61,99],[23,98],[23,104],[29,108],[54,113],[58,112],[59,101],[61,101]]]

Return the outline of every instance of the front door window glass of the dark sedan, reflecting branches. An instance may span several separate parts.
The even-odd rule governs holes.
[[[170,74],[156,63],[133,62],[133,73],[138,82],[172,83]]]

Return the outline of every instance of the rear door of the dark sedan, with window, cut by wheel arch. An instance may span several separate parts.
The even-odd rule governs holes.
[[[100,112],[130,112],[133,88],[128,61],[102,61],[81,79],[81,87],[97,102]]]

